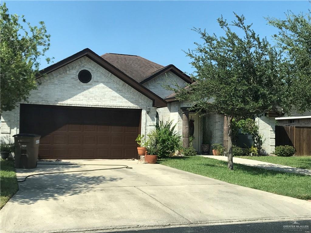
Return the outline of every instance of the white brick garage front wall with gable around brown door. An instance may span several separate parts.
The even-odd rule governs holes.
[[[86,69],[92,80],[83,84],[79,71]],[[133,89],[103,67],[82,57],[39,80],[41,85],[28,98],[30,104],[67,105],[85,107],[115,107],[142,109],[142,134],[150,132],[156,124],[156,108],[152,100]],[[151,111],[146,114],[146,108]],[[19,106],[1,115],[1,141],[12,141],[19,132]]]

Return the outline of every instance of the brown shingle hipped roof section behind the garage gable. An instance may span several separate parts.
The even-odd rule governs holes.
[[[101,57],[139,83],[155,71],[164,68],[164,66],[136,55],[105,53]]]

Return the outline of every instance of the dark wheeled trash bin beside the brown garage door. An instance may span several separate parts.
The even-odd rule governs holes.
[[[37,167],[39,139],[41,136],[37,134],[16,134],[13,137],[15,146],[15,167]]]

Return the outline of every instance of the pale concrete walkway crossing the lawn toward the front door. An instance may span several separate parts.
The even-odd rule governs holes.
[[[226,156],[214,156],[214,155],[199,155],[199,156],[206,157],[206,158],[214,158],[214,159],[223,160],[223,161],[228,160],[228,157]],[[239,164],[244,164],[247,166],[259,167],[259,168],[264,168],[268,170],[294,172],[298,174],[311,175],[311,170],[301,169],[301,168],[296,168],[296,167],[289,167],[289,166],[274,164],[270,162],[261,162],[261,161],[252,160],[252,159],[233,157],[233,163],[239,163]]]

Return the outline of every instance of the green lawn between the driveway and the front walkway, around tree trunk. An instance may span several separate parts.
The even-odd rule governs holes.
[[[311,199],[311,177],[307,175],[266,170],[242,164],[234,164],[234,171],[230,171],[225,161],[199,156],[170,157],[160,159],[159,162],[168,167],[231,184],[299,199]]]

